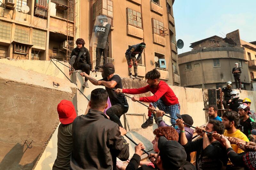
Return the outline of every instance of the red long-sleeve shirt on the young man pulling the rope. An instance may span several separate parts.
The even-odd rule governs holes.
[[[149,97],[140,97],[142,102],[156,102],[158,99],[162,99],[167,106],[175,105],[179,103],[178,98],[172,91],[172,89],[164,81],[160,81],[157,88],[150,87],[149,85],[138,89],[123,89],[123,93],[127,94],[141,94],[145,92],[152,92],[154,95]]]

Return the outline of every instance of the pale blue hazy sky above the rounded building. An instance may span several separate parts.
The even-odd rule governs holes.
[[[213,35],[225,37],[239,29],[244,41],[256,41],[256,0],[175,0],[173,17],[178,53],[191,51],[190,43]]]

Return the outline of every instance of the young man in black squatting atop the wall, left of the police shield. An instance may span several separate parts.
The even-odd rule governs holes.
[[[92,70],[91,57],[89,50],[84,47],[84,40],[82,38],[78,38],[76,40],[76,48],[74,48],[71,52],[70,56],[70,67],[75,70],[82,70],[86,72],[86,74],[90,74],[90,70]],[[69,70],[69,75],[71,75],[73,70]],[[87,83],[88,79],[84,78],[83,87],[89,88]]]

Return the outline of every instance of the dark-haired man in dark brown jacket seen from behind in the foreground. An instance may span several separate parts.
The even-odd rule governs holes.
[[[124,128],[112,122],[103,113],[108,107],[108,93],[94,89],[87,115],[77,116],[73,122],[73,152],[70,169],[112,169],[113,160],[129,158],[129,146],[124,140]],[[115,169],[115,165],[113,169]]]

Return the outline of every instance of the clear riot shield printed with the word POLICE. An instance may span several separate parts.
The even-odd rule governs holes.
[[[105,15],[96,17],[92,30],[91,47],[105,48],[108,39],[108,33],[111,27],[111,18]]]

